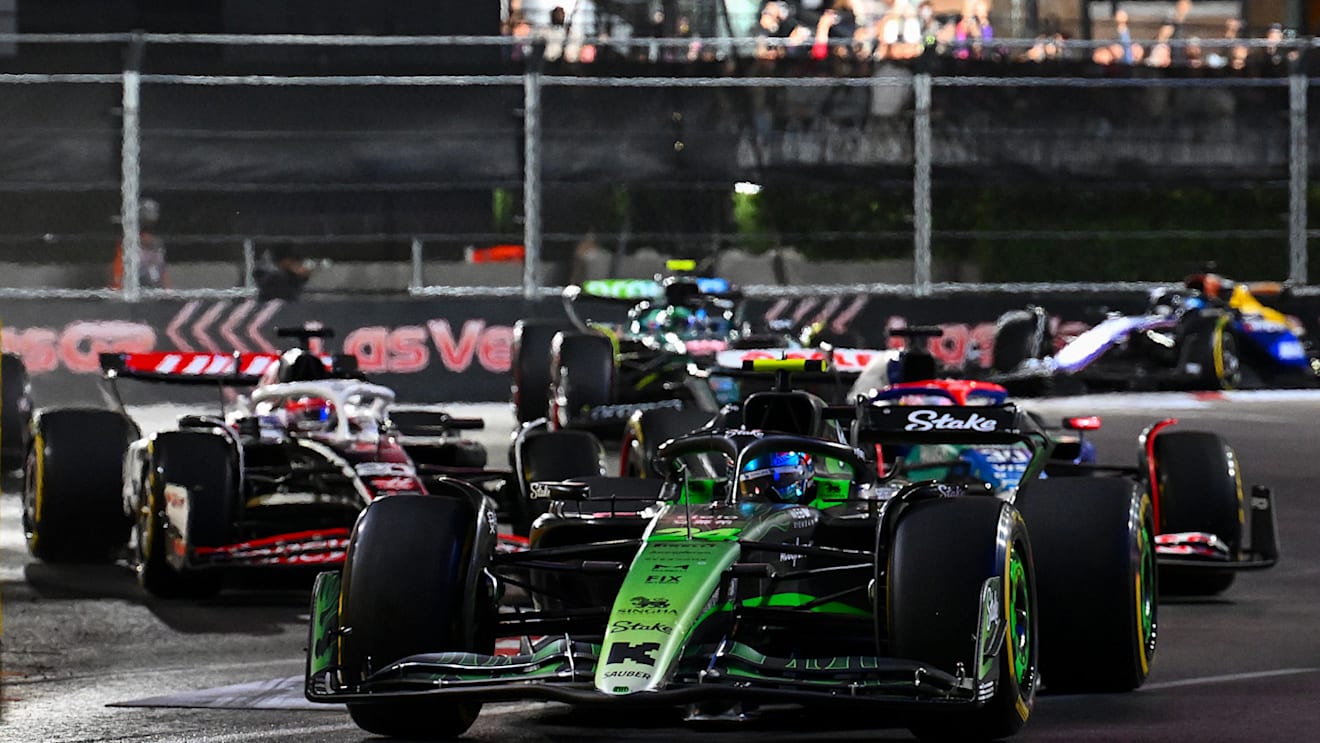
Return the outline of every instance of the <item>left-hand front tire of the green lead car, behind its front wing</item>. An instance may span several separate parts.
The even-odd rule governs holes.
[[[371,503],[354,527],[341,594],[345,684],[425,652],[492,655],[494,600],[482,570],[491,545],[463,498],[393,495]],[[474,598],[475,597],[475,598]],[[400,738],[457,738],[480,702],[444,698],[350,703],[358,727]]]

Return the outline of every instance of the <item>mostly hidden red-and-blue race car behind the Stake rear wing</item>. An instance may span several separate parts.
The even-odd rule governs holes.
[[[994,383],[933,379],[894,384],[870,393],[869,400],[875,405],[995,406],[1007,397]],[[1065,479],[1065,487],[1086,491],[1111,487],[1101,480],[1118,478],[1148,494],[1163,593],[1218,594],[1239,571],[1272,567],[1278,561],[1272,494],[1263,486],[1243,492],[1237,454],[1218,434],[1173,428],[1177,421],[1166,418],[1138,437],[1135,466],[1110,466],[1097,462],[1096,447],[1085,437],[1100,429],[1100,417],[1068,417],[1053,429],[1039,422],[1053,443],[1043,470],[1051,483]],[[945,459],[941,466],[997,490],[1020,487],[1027,475],[1026,459],[998,446],[964,446],[946,451]],[[1082,513],[1078,523],[1085,523]],[[1038,545],[1038,553],[1071,549],[1069,544],[1048,545]]]

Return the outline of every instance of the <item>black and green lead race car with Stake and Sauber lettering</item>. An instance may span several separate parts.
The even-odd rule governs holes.
[[[995,443],[1039,472],[1051,439],[1030,416],[829,406],[789,389],[750,396],[742,414],[748,428],[660,446],[664,478],[539,482],[550,508],[525,552],[495,550],[494,513],[461,482],[372,503],[343,571],[317,581],[306,697],[397,736],[455,736],[483,702],[548,699],[692,718],[850,705],[921,736],[994,739],[1024,725],[1043,676],[1074,690],[1144,680],[1143,494],[1090,488],[1077,528],[1052,511],[1060,492],[903,463],[920,446]],[[546,433],[539,457],[561,436],[566,451],[589,434]],[[1077,544],[1039,564],[1028,524]],[[1047,581],[1086,590],[1055,606]],[[1040,635],[1047,618],[1073,632]]]

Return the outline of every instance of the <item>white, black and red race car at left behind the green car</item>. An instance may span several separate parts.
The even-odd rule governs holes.
[[[252,388],[216,414],[183,414],[150,436],[123,405],[34,417],[22,494],[29,552],[106,561],[127,546],[158,597],[214,594],[234,569],[338,565],[374,499],[426,494],[438,474],[480,488],[507,478],[483,470],[484,449],[458,436],[482,421],[395,412],[393,392],[360,379],[352,356],[106,354],[102,368],[116,393],[121,379]]]

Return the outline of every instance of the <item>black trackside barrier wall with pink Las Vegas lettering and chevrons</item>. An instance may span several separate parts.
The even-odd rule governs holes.
[[[906,298],[822,296],[756,300],[754,321],[825,323],[862,347],[884,347],[887,330],[941,325],[931,348],[949,368],[986,366],[994,322],[1006,310],[1039,304],[1071,330],[1094,323],[1105,309],[1138,311],[1126,294],[953,294]],[[1288,298],[1280,309],[1313,329],[1320,297]],[[605,310],[602,310],[605,311]],[[618,313],[618,309],[614,310]],[[98,354],[104,351],[279,351],[281,326],[319,323],[335,337],[323,350],[358,356],[364,372],[392,387],[400,401],[499,401],[508,399],[513,323],[523,317],[562,317],[557,300],[335,298],[280,301],[8,301],[0,304],[5,351],[24,358],[38,405],[99,404]],[[598,315],[606,319],[605,315]],[[1065,329],[1069,330],[1069,329]],[[128,403],[214,400],[214,391],[125,383]]]

